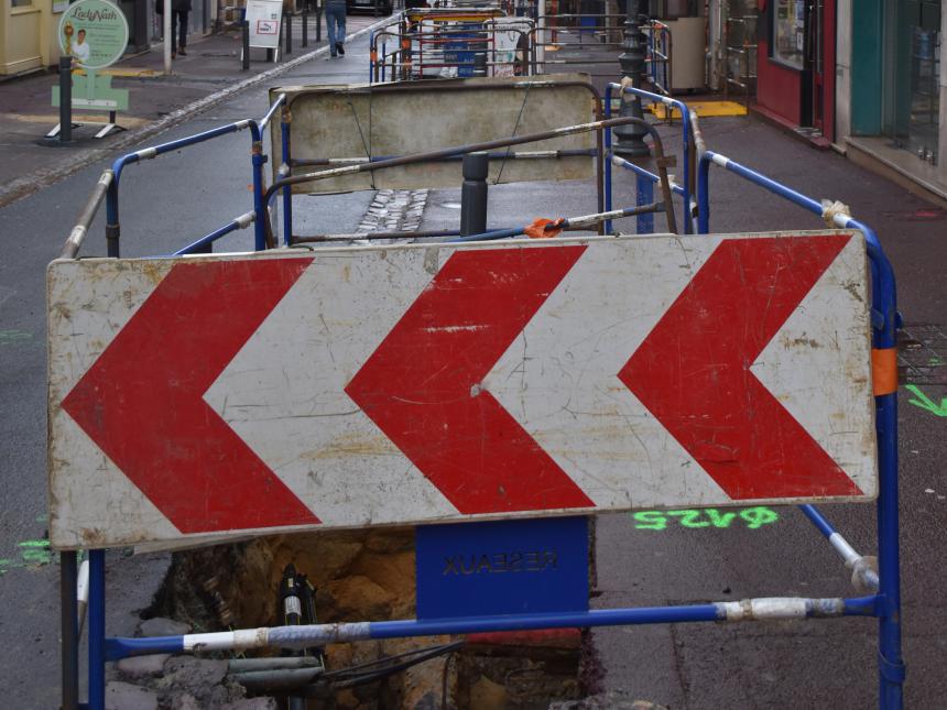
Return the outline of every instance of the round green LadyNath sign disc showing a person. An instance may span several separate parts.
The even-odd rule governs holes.
[[[124,14],[108,0],[78,0],[59,20],[59,48],[77,66],[101,69],[118,62],[128,45]]]

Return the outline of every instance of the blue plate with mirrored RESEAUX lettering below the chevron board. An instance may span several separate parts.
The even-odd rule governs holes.
[[[417,618],[588,610],[588,518],[424,525]]]

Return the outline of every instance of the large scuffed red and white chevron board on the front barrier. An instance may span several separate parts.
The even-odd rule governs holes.
[[[57,547],[875,494],[860,234],[50,267]]]

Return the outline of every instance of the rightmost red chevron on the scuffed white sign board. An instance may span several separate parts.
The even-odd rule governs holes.
[[[750,371],[851,239],[729,239],[619,378],[734,499],[861,491]]]

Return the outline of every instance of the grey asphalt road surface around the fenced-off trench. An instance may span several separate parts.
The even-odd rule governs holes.
[[[366,75],[367,46],[355,42],[342,61],[316,61],[284,83],[346,83]],[[162,138],[196,133],[221,123],[259,117],[263,90],[254,89],[182,123]],[[708,146],[766,171],[803,192],[851,206],[873,226],[900,278],[900,307],[908,325],[944,325],[947,313],[947,220],[945,212],[835,153],[809,149],[753,119],[704,122]],[[250,138],[239,133],[133,166],[122,178],[123,255],[170,253],[250,209]],[[44,270],[55,258],[105,164],[0,210],[0,687],[4,703],[52,708],[57,702],[56,567],[46,564]],[[818,229],[821,222],[758,188],[722,173],[712,177],[715,231]],[[509,188],[507,188],[509,189]],[[556,216],[579,201],[585,188],[523,187],[523,203],[496,193],[491,221],[521,223]],[[631,203],[630,183],[618,186],[616,205]],[[505,194],[505,193],[504,193]],[[432,197],[432,210],[449,201]],[[328,199],[328,198],[325,198]],[[329,208],[338,231],[351,229],[364,201],[339,198]],[[584,209],[581,211],[589,211]],[[442,216],[447,219],[446,212]],[[521,219],[525,217],[527,219]],[[238,232],[221,249],[249,249]],[[101,216],[83,250],[104,254]],[[945,347],[941,345],[941,347]],[[939,402],[945,382],[924,391]],[[901,514],[905,657],[908,707],[943,707],[947,697],[947,635],[939,564],[947,556],[947,418],[902,396]],[[762,596],[850,594],[841,564],[794,509],[773,509],[753,528],[740,517],[727,528],[687,528],[671,521],[642,527],[628,514],[601,516],[598,525],[596,603],[665,604],[739,600]],[[860,551],[873,547],[870,505],[829,506],[827,514]],[[752,522],[752,520],[750,522]],[[652,521],[653,522],[653,521]],[[653,527],[654,525],[652,525]],[[26,543],[26,545],[23,545]],[[131,612],[146,603],[148,560],[117,558],[110,576],[110,631],[124,631]],[[160,559],[154,565],[162,564]],[[874,703],[874,623],[831,620],[793,624],[685,624],[595,632],[607,688],[624,689],[674,708],[866,708]]]

